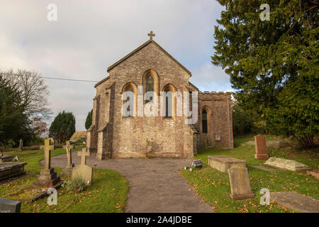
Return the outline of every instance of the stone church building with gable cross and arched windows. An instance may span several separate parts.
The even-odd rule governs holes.
[[[191,72],[153,39],[108,67],[108,77],[95,85],[92,125],[87,148],[96,159],[129,157],[194,157],[205,147],[233,148],[231,92],[200,92],[189,82]],[[212,77],[213,79],[213,77]],[[198,121],[187,116],[138,116],[142,92],[198,92]],[[134,94],[133,116],[123,116],[123,92]],[[174,99],[174,98],[173,98]],[[155,99],[156,100],[156,99]],[[174,106],[175,104],[175,106]]]

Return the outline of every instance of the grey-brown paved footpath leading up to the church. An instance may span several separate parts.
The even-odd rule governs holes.
[[[79,165],[77,151],[72,161]],[[179,170],[191,165],[191,158],[111,159],[98,161],[92,153],[86,164],[97,169],[118,171],[128,180],[127,209],[131,213],[211,213],[211,206],[191,190],[190,185],[179,175]],[[51,158],[52,167],[65,167],[67,155]],[[43,161],[41,161],[43,165]]]

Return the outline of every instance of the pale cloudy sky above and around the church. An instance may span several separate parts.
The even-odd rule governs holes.
[[[57,21],[47,20],[49,4],[57,6]],[[156,42],[192,72],[199,89],[229,91],[228,75],[211,64],[213,26],[222,10],[215,0],[1,0],[0,69],[100,81],[108,66],[145,43],[152,30]],[[53,116],[72,111],[77,130],[84,130],[94,83],[46,83]]]

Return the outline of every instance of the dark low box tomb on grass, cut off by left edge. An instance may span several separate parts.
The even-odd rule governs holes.
[[[24,166],[26,162],[6,162],[0,163],[0,182],[11,177],[25,175]]]

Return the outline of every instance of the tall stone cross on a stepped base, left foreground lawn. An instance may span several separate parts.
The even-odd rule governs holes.
[[[54,150],[54,148],[54,145],[50,145],[50,139],[46,139],[44,145],[45,166],[44,169],[40,171],[35,185],[54,187],[61,182],[60,177],[57,177],[55,169],[51,168],[51,150]]]

